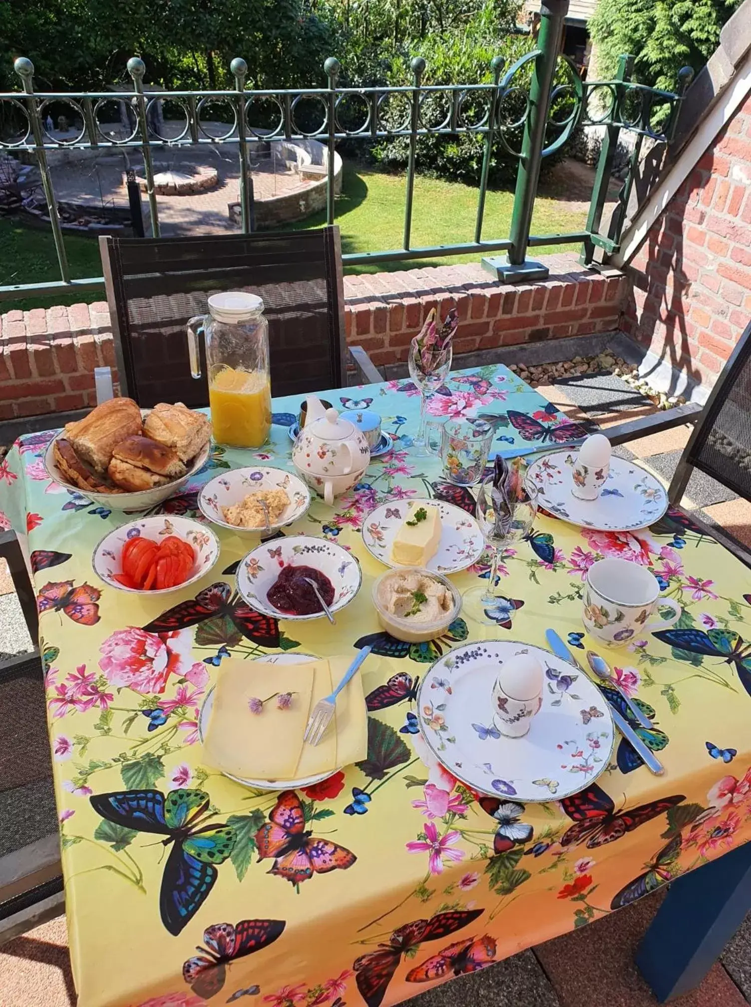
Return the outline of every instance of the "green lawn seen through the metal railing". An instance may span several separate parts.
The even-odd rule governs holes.
[[[345,163],[343,191],[336,200],[336,223],[341,228],[342,251],[374,252],[398,249],[404,231],[406,182],[403,175]],[[507,238],[511,220],[513,193],[506,190],[487,193],[482,237],[485,240]],[[438,181],[418,177],[412,213],[412,247],[448,245],[470,242],[474,238],[477,210],[477,189],[458,182]],[[585,213],[572,211],[569,204],[550,197],[538,197],[533,220],[533,233],[557,234],[578,231],[584,227]],[[325,224],[325,213],[316,213],[303,223],[304,228]],[[541,252],[561,251],[572,246],[553,246]],[[102,265],[96,239],[65,237],[65,249],[74,278],[101,276]],[[476,261],[476,255],[446,256],[432,260],[434,264]],[[373,263],[353,267],[348,272],[378,272],[409,269],[420,263]],[[48,232],[22,227],[16,221],[0,220],[0,286],[12,283],[40,283],[59,278],[52,236]],[[6,301],[1,307],[29,308],[37,305],[95,301],[103,292],[79,292],[62,296],[27,297],[23,301]]]

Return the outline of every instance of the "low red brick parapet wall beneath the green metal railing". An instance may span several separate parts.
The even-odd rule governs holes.
[[[455,307],[454,352],[523,345],[618,327],[626,279],[585,270],[576,256],[554,255],[544,282],[495,282],[479,263],[344,278],[346,337],[377,367],[403,362],[437,306]],[[95,403],[94,369],[115,368],[106,302],[11,310],[0,315],[0,420],[83,409]],[[461,367],[458,359],[456,366]]]

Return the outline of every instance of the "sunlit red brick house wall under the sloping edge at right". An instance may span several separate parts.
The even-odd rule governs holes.
[[[621,329],[710,384],[751,320],[751,98],[716,137],[627,270]]]

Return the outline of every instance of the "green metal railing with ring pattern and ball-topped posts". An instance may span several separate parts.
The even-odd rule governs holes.
[[[329,57],[324,63],[328,87],[300,91],[253,91],[246,88],[248,65],[242,58],[233,59],[233,91],[144,91],[145,66],[141,59],[128,60],[133,91],[98,93],[45,93],[33,86],[33,65],[19,58],[15,70],[23,84],[22,92],[0,94],[0,112],[5,120],[15,117],[21,128],[14,136],[3,137],[0,150],[32,152],[39,168],[44,198],[51,223],[60,280],[51,283],[0,286],[0,300],[13,300],[30,292],[48,295],[58,292],[88,291],[104,288],[102,277],[71,279],[65,246],[47,162],[47,151],[60,149],[128,149],[142,153],[151,219],[151,233],[159,237],[159,207],[154,188],[152,151],[163,147],[200,144],[229,144],[238,148],[240,162],[240,203],[242,229],[253,230],[252,176],[249,165],[250,140],[302,140],[313,138],[325,144],[326,215],[329,224],[336,217],[335,159],[338,141],[347,139],[380,140],[405,137],[409,141],[404,241],[401,249],[387,249],[344,255],[346,265],[395,260],[430,259],[448,255],[477,253],[483,265],[500,279],[510,282],[540,279],[546,267],[528,258],[530,248],[561,244],[582,244],[582,261],[593,263],[595,247],[605,256],[617,251],[626,206],[631,192],[643,139],[669,142],[674,131],[684,93],[693,71],[686,67],[679,75],[674,93],[657,91],[632,83],[631,57],[622,56],[613,81],[584,82],[574,64],[560,55],[564,18],[569,0],[545,0],[536,48],[525,53],[503,73],[503,59],[491,62],[492,83],[482,85],[424,86],[425,60],[412,60],[413,83],[402,88],[339,88],[340,65]],[[156,103],[169,102],[181,110],[184,126],[175,135],[165,136],[155,124]],[[47,132],[45,116],[59,103],[72,109],[73,120],[81,123],[70,139],[55,138]],[[127,110],[130,132],[116,136],[103,129],[100,114],[113,103]],[[317,114],[311,112],[317,109]],[[354,111],[359,108],[359,112]],[[218,136],[206,130],[202,118],[209,110],[220,108],[228,120],[226,133]],[[263,116],[260,113],[263,110]],[[267,125],[258,125],[259,119]],[[355,121],[358,120],[358,121]],[[270,125],[268,125],[270,123]],[[658,125],[657,125],[658,123]],[[542,160],[559,150],[580,126],[603,126],[599,163],[586,230],[569,234],[533,235],[532,215],[538,191]],[[607,197],[608,182],[621,131],[634,136],[632,155],[618,204],[607,234],[600,231]],[[411,242],[413,193],[418,139],[429,135],[473,133],[483,138],[484,154],[477,193],[474,241],[455,245],[413,248]],[[513,211],[508,237],[483,240],[485,209],[491,156],[496,145],[518,160]],[[488,253],[505,252],[497,258]]]

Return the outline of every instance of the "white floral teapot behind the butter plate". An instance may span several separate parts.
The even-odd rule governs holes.
[[[329,507],[334,496],[359,482],[370,462],[370,449],[360,431],[338,412],[308,396],[307,419],[292,448],[292,461],[311,489]]]

